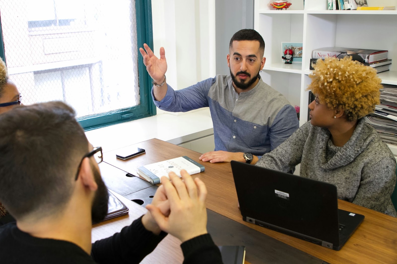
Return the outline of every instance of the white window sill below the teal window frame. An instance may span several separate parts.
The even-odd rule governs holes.
[[[184,115],[162,113],[130,122],[106,126],[85,132],[94,147],[104,152],[158,138],[180,144],[214,134],[208,108]]]

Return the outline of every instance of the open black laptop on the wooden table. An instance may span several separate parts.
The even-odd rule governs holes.
[[[243,220],[339,250],[364,216],[338,209],[336,186],[231,161]]]

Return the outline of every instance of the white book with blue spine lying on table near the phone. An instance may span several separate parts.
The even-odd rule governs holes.
[[[176,175],[181,177],[181,170],[186,170],[190,175],[204,171],[204,166],[200,163],[193,161],[193,159],[183,156],[166,161],[160,161],[137,168],[137,172],[148,182],[152,184],[159,184],[162,176],[167,176],[169,172],[175,172]]]

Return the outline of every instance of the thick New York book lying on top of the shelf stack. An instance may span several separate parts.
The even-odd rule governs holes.
[[[387,59],[387,50],[326,47],[312,52],[313,59],[324,59],[326,57],[343,58],[345,56],[351,56],[354,60],[362,63],[371,63]]]

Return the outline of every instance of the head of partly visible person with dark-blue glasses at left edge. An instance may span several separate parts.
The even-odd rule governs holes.
[[[6,63],[0,58],[0,114],[21,104],[21,94],[17,86],[8,78]],[[0,209],[1,214],[1,209]]]

